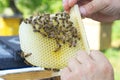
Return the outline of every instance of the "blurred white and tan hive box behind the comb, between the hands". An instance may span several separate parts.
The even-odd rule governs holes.
[[[92,19],[83,20],[90,49],[104,50],[111,46],[111,23],[100,23]]]

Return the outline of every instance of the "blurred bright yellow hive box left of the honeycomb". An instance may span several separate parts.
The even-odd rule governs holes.
[[[0,36],[18,35],[21,16],[0,16]]]

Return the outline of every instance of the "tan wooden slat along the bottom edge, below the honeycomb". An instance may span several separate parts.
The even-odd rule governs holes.
[[[54,77],[52,71],[36,71],[18,74],[8,74],[2,76],[5,80],[60,80],[60,77]]]

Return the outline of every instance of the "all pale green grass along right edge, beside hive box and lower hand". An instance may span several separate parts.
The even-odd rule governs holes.
[[[118,40],[120,40],[120,20],[115,21],[112,26],[112,42]],[[117,48],[109,48],[102,52],[105,53],[105,56],[113,66],[115,80],[120,80],[120,46]]]

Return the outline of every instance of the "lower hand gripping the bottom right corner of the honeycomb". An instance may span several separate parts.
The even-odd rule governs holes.
[[[61,80],[114,80],[114,73],[103,53],[79,51],[61,70]]]

